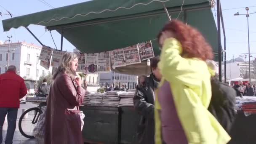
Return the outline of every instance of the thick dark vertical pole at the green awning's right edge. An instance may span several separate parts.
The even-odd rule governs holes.
[[[219,58],[219,81],[221,76],[221,21],[220,21],[220,0],[217,0],[217,25],[218,25],[218,58]]]

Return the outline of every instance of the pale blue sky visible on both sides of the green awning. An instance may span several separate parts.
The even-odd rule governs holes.
[[[72,5],[75,3],[82,3],[87,0],[1,0],[0,12],[3,13],[3,18],[8,19],[10,16],[5,15],[8,10],[14,16],[35,13],[39,11],[49,10],[51,8],[58,8],[66,5]],[[44,2],[48,3],[45,4]],[[2,7],[1,7],[2,6]],[[4,8],[5,9],[4,9]],[[256,12],[256,0],[221,0],[221,7],[223,11],[224,27],[226,32],[226,54],[227,60],[233,58],[233,56],[239,57],[242,53],[248,53],[248,33],[247,33],[247,18],[245,15],[234,16],[235,13],[246,13],[245,7],[249,7],[249,13]],[[217,21],[216,7],[212,8],[213,16]],[[13,17],[14,17],[13,16]],[[43,26],[30,25],[29,29],[39,38],[39,40],[52,48],[55,48],[50,32],[45,32]],[[221,32],[222,33],[222,32]],[[250,49],[251,55],[256,57],[256,13],[251,14],[249,17],[249,34],[250,34]],[[27,43],[34,43],[34,45],[40,45],[37,40],[24,28],[11,29],[8,32],[3,32],[2,21],[0,21],[0,40],[8,40],[7,36],[13,36],[11,40],[13,42],[24,41]],[[57,48],[60,48],[61,35],[52,31],[53,39]],[[221,35],[223,45],[223,35]],[[75,47],[69,43],[65,38],[63,42],[63,50],[72,51]],[[248,59],[247,59],[248,61]]]

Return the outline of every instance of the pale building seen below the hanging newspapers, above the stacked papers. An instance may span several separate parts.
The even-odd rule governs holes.
[[[107,85],[109,86],[110,84],[114,85],[125,85],[126,88],[128,89],[133,89],[135,88],[136,84],[138,83],[138,77],[135,75],[124,75],[120,73],[116,73],[114,71],[108,72],[108,73],[101,73],[99,74],[100,80],[99,83],[100,85]]]

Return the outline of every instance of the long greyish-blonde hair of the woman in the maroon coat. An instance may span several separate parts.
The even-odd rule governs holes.
[[[56,71],[53,74],[53,80],[56,78],[59,72],[64,72],[71,77],[75,77],[75,72],[73,72],[72,69],[70,68],[70,63],[76,58],[77,58],[77,55],[75,53],[72,53],[72,52],[64,53],[61,60],[61,65],[58,67],[58,69],[56,69]]]

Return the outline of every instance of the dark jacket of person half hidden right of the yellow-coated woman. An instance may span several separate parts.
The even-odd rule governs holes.
[[[235,121],[236,91],[217,80],[211,80],[211,91],[212,98],[208,110],[229,133]]]

